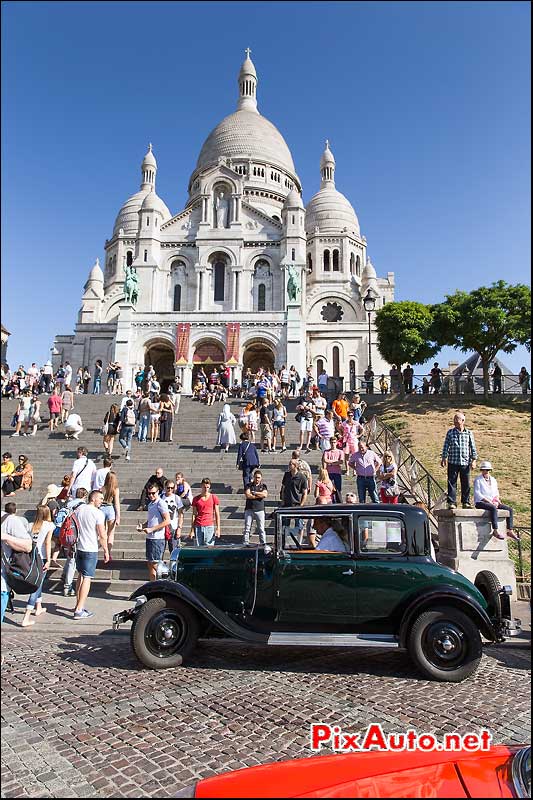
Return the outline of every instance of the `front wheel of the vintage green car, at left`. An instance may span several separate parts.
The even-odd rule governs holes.
[[[131,645],[139,661],[150,669],[179,667],[198,639],[198,618],[175,597],[153,597],[135,617]]]

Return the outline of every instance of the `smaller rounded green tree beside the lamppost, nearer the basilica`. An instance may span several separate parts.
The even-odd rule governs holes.
[[[389,364],[423,364],[440,349],[431,338],[433,314],[430,306],[405,300],[387,303],[376,314],[378,350]],[[403,393],[403,381],[400,382]]]

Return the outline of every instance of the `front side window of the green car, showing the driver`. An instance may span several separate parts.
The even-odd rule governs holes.
[[[322,520],[317,523],[317,520]],[[325,521],[327,520],[327,522]],[[302,513],[297,517],[283,515],[279,519],[280,545],[283,551],[304,553],[352,552],[351,514],[311,516]],[[327,537],[327,538],[326,538]],[[324,539],[322,548],[320,542]],[[327,547],[324,547],[324,543]]]

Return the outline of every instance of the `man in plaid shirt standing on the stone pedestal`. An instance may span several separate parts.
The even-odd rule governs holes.
[[[461,479],[461,505],[470,505],[470,468],[476,467],[476,443],[472,431],[465,428],[465,415],[458,411],[453,418],[442,448],[441,467],[448,462],[448,508],[457,508],[457,478]]]

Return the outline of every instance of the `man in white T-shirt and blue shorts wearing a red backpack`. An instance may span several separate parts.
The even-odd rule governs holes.
[[[94,578],[96,572],[98,545],[101,545],[104,551],[104,564],[109,561],[105,517],[100,511],[102,500],[102,492],[95,489],[89,495],[88,502],[80,505],[74,512],[78,523],[78,541],[76,542],[78,582],[74,619],[87,619],[94,616],[92,611],[87,611],[85,608],[85,601],[91,588],[91,579]]]

